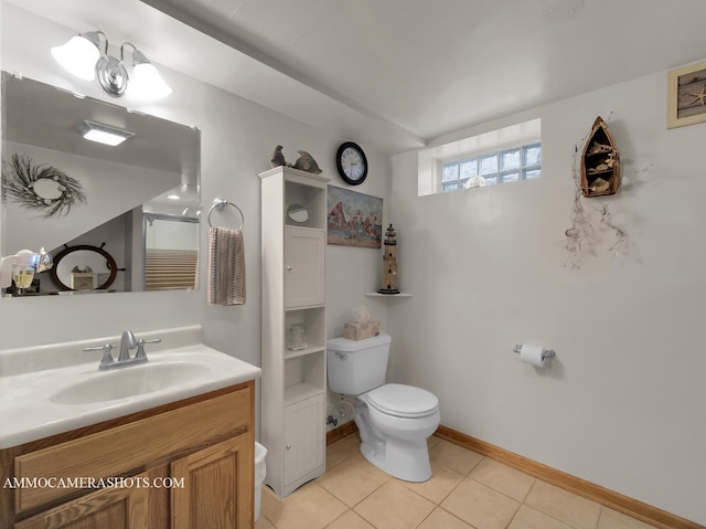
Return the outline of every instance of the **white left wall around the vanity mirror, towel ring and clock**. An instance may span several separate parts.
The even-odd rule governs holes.
[[[122,9],[116,8],[116,9]],[[173,94],[158,104],[140,105],[128,99],[113,99],[97,83],[74,81],[54,64],[49,49],[67,41],[85,28],[68,29],[38,19],[11,4],[2,4],[2,68],[22,71],[28,77],[85,93],[93,97],[142,109],[150,114],[201,131],[201,192],[204,211],[213,199],[223,197],[238,204],[245,215],[247,303],[239,307],[206,305],[204,288],[197,292],[131,293],[101,296],[45,297],[41,299],[0,299],[0,349],[77,337],[114,336],[125,328],[135,332],[203,324],[205,342],[254,364],[260,364],[260,180],[258,172],[269,169],[276,145],[284,145],[291,162],[297,150],[312,154],[332,178],[344,187],[335,173],[335,151],[345,139],[357,140],[365,148],[371,166],[361,192],[387,198],[389,166],[364,138],[336,138],[315,130],[268,108],[247,102],[178,72],[160,67]],[[145,31],[153,31],[145,28]],[[135,35],[139,45],[139,32]],[[185,43],[184,45],[188,45]],[[126,96],[127,97],[127,96]],[[206,255],[207,225],[201,225],[201,250]],[[338,334],[349,314],[364,300],[363,293],[376,285],[377,252],[366,248],[329,247],[327,297],[329,330]],[[201,277],[206,263],[201,262]],[[386,308],[372,310],[385,319]]]

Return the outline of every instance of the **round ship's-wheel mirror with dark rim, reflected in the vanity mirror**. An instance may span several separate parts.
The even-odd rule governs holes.
[[[105,290],[118,273],[113,256],[103,247],[66,246],[54,257],[52,281],[60,290]]]

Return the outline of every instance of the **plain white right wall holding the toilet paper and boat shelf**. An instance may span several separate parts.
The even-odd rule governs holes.
[[[666,73],[464,131],[541,117],[535,181],[419,198],[416,152],[394,157],[391,212],[415,297],[388,315],[391,371],[435,392],[447,426],[706,523],[706,124],[667,130],[665,106]],[[584,241],[576,268],[564,235],[574,152],[597,115],[625,181],[582,199],[596,244]],[[601,204],[630,237],[618,255]],[[520,363],[518,342],[557,358]]]

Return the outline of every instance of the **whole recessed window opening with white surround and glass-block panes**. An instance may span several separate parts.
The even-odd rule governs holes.
[[[417,154],[417,194],[542,177],[542,119],[438,144]]]

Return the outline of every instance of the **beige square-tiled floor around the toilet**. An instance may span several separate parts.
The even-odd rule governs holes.
[[[330,445],[327,473],[279,499],[264,486],[255,529],[649,529],[438,437],[434,476],[407,483],[359,452],[357,434]]]

